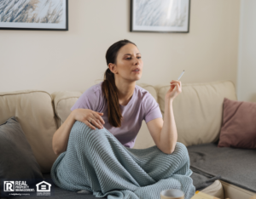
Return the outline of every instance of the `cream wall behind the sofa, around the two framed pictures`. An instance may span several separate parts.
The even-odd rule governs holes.
[[[108,68],[120,39],[137,44],[152,85],[231,80],[236,84],[240,0],[191,0],[189,33],[130,32],[130,0],[70,0],[69,31],[0,30],[0,92],[84,91]]]

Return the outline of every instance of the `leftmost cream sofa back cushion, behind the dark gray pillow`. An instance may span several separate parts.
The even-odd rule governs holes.
[[[41,172],[49,172],[57,158],[52,137],[57,130],[50,94],[40,90],[0,93],[0,123],[15,116],[26,135]]]

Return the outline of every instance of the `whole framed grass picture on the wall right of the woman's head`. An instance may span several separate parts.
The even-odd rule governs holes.
[[[130,31],[189,32],[190,0],[131,0]]]

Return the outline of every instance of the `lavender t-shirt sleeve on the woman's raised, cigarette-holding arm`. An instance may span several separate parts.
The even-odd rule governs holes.
[[[154,120],[155,118],[162,118],[162,113],[160,111],[160,107],[152,94],[145,94],[143,100],[144,107],[144,120],[148,123],[150,120]]]

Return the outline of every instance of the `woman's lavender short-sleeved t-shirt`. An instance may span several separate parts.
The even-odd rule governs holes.
[[[154,97],[146,89],[137,85],[129,103],[127,105],[119,105],[119,107],[123,120],[121,127],[115,128],[108,122],[108,103],[107,99],[104,98],[102,82],[100,82],[85,90],[73,105],[71,111],[75,109],[90,109],[103,112],[104,128],[107,128],[122,145],[129,148],[134,146],[143,120],[147,123],[155,118],[162,117],[160,107]]]

